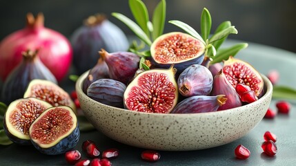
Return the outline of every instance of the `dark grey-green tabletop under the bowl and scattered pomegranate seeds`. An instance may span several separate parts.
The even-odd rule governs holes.
[[[226,45],[238,41],[230,40]],[[249,43],[248,48],[241,50],[237,58],[250,62],[257,71],[266,74],[271,69],[280,73],[281,85],[295,88],[296,54],[269,46]],[[66,90],[74,89],[74,84],[63,82]],[[272,100],[270,108],[276,110]],[[84,140],[94,140],[101,151],[109,148],[119,149],[119,157],[111,160],[112,165],[296,165],[296,102],[289,101],[292,109],[288,115],[278,114],[273,120],[263,119],[246,136],[230,142],[227,145],[197,151],[159,151],[161,158],[157,163],[147,163],[141,160],[140,154],[144,149],[131,147],[116,142],[99,131],[81,133],[79,143],[75,149],[81,151]],[[274,157],[262,153],[262,142],[265,131],[277,135],[278,153]],[[234,149],[242,144],[251,154],[247,160],[238,160],[234,156]],[[82,154],[83,158],[87,158]],[[64,156],[47,156],[39,153],[34,147],[12,144],[0,145],[0,165],[67,165]]]

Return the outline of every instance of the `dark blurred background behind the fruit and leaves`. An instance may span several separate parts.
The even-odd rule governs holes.
[[[143,0],[150,16],[159,0]],[[240,39],[274,46],[296,52],[296,1],[295,0],[167,0],[166,21],[179,19],[200,32],[200,14],[208,8],[213,19],[212,30],[222,22],[229,20],[239,34],[230,35],[231,39]],[[0,39],[26,24],[27,12],[37,15],[43,12],[45,26],[70,37],[73,31],[82,25],[83,19],[97,12],[108,15],[110,21],[124,30],[127,35],[132,32],[120,21],[110,16],[111,12],[121,12],[132,18],[128,0],[0,0]],[[165,33],[180,30],[166,24]]]

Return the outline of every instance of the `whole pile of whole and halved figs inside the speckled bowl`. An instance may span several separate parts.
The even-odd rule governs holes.
[[[193,40],[198,39],[184,33],[161,35],[146,61],[135,53],[101,49],[83,91],[102,104],[146,113],[221,111],[262,95],[264,82],[253,66],[234,57],[223,65],[204,65],[205,48]],[[146,68],[139,68],[141,63]]]

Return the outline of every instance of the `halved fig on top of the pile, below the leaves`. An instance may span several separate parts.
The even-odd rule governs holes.
[[[152,59],[158,68],[175,64],[178,73],[192,64],[201,64],[205,50],[205,45],[199,39],[179,32],[157,37],[150,47]]]

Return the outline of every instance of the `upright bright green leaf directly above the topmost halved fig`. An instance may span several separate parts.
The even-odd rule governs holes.
[[[155,40],[157,37],[164,33],[164,24],[166,22],[166,1],[161,0],[157,4],[152,16],[152,39]]]

